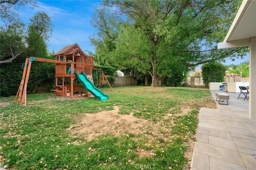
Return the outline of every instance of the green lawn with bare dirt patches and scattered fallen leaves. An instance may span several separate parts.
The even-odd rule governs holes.
[[[113,89],[104,91],[109,100],[103,102],[40,93],[27,95],[24,107],[12,102],[14,96],[2,97],[2,166],[16,170],[188,168],[199,109],[216,105],[210,91]]]

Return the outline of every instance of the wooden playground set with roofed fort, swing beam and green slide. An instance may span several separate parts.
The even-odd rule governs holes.
[[[26,106],[27,84],[32,61],[55,63],[55,85],[52,92],[68,98],[95,97],[100,101],[108,100],[108,95],[93,84],[92,70],[100,72],[100,82],[107,83],[113,91],[104,72],[94,68],[93,57],[85,55],[77,43],[68,45],[53,55],[54,59],[26,58],[22,79],[14,102]]]

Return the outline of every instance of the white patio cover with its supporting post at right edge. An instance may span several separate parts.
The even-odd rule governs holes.
[[[249,118],[256,120],[256,0],[244,0],[218,49],[249,46]]]

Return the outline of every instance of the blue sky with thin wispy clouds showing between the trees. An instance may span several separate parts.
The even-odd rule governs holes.
[[[31,9],[22,6],[19,13],[24,22],[28,22],[36,12],[45,12],[51,17],[54,30],[48,42],[49,52],[58,52],[66,45],[78,43],[82,50],[95,52],[95,48],[90,44],[89,36],[96,33],[91,26],[91,15],[94,8],[100,4],[99,0],[38,0],[39,8]],[[226,59],[224,65],[232,63],[238,65],[249,60],[249,56],[244,59],[231,61]]]

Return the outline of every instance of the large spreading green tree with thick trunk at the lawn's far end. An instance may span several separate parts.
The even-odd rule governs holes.
[[[91,38],[99,58],[120,69],[152,76],[182,75],[189,67],[226,57],[243,57],[245,47],[217,50],[240,1],[104,1],[92,16],[98,34]],[[99,61],[102,61],[98,59]]]

